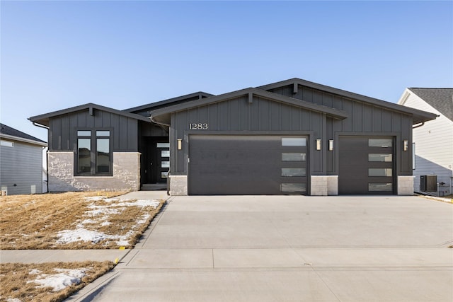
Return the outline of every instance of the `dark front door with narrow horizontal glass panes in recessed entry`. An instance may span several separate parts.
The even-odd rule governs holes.
[[[150,139],[147,144],[147,183],[167,182],[170,170],[170,144],[168,137]]]

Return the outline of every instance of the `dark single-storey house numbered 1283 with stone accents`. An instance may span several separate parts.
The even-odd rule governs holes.
[[[412,127],[435,117],[289,79],[29,120],[49,128],[50,191],[336,195],[413,194]]]

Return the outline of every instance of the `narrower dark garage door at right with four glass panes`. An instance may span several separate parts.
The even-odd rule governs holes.
[[[340,137],[339,194],[394,194],[394,138]]]

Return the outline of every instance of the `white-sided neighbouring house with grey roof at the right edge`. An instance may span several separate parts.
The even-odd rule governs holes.
[[[438,116],[413,127],[414,192],[452,194],[453,88],[406,88],[398,104]],[[436,176],[432,188],[423,183],[430,175]]]

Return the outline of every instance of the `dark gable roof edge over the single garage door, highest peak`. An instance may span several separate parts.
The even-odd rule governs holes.
[[[413,124],[419,124],[420,122],[427,122],[429,120],[434,120],[436,117],[436,115],[434,115],[430,112],[425,112],[422,110],[417,110],[415,108],[410,108],[410,107],[406,107],[403,105],[386,102],[385,100],[379,100],[377,98],[370,98],[369,96],[366,96],[366,95],[360,95],[358,93],[352,93],[350,91],[344,91],[342,89],[333,88],[330,86],[325,86],[325,85],[321,85],[319,83],[314,83],[314,82],[310,82],[310,81],[306,81],[306,80],[302,80],[302,79],[298,79],[298,78],[293,78],[293,79],[280,81],[280,82],[276,82],[276,83],[270,83],[268,85],[259,86],[258,88],[264,89],[264,90],[272,90],[275,88],[281,88],[281,87],[289,86],[289,85],[306,86],[306,87],[313,88],[313,89],[316,89],[319,91],[324,91],[327,93],[340,95],[345,98],[351,98],[353,100],[360,100],[360,101],[362,101],[364,103],[368,103],[370,105],[378,106],[381,108],[386,108],[389,110],[394,110],[397,112],[402,112],[407,115],[412,115]]]

